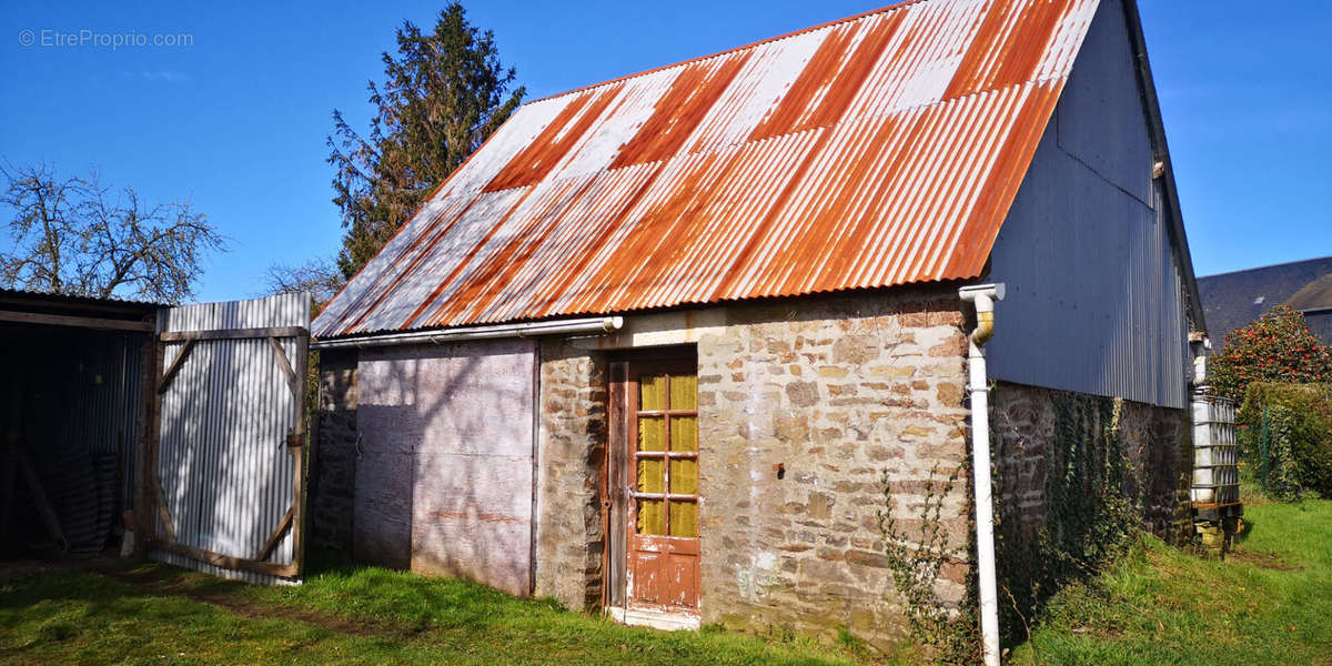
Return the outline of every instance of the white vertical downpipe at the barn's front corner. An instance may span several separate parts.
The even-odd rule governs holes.
[[[990,481],[990,386],[984,345],[995,329],[995,301],[1003,282],[963,286],[958,296],[976,306],[976,329],[967,345],[971,370],[971,477],[976,500],[976,577],[980,591],[980,641],[986,666],[999,666],[999,593],[995,583],[994,489]]]

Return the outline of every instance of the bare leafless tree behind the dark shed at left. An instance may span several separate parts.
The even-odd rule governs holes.
[[[145,205],[132,188],[61,178],[45,164],[0,166],[12,218],[0,286],[97,298],[180,302],[225,240],[189,201]]]

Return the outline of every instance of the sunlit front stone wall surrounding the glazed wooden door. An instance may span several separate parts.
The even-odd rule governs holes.
[[[899,638],[880,476],[919,529],[931,469],[964,465],[962,324],[952,289],[899,289],[642,316],[615,336],[543,342],[537,593],[599,601],[606,353],[685,342],[699,365],[703,622]],[[966,488],[943,525],[963,550]],[[964,575],[962,562],[946,571],[946,598],[962,598]]]

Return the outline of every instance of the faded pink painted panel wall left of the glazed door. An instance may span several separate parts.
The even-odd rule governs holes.
[[[361,352],[353,554],[531,593],[531,341]]]

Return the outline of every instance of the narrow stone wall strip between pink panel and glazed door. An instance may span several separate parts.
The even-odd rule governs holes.
[[[606,390],[603,353],[541,345],[535,594],[575,610],[601,603]]]

